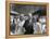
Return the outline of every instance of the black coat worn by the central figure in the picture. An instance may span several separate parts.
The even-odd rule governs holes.
[[[25,35],[27,34],[33,34],[34,32],[34,29],[33,29],[33,25],[29,25],[29,20],[26,20],[25,23],[24,23],[24,26],[25,28]]]

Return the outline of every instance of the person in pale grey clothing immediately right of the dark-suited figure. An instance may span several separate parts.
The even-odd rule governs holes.
[[[38,25],[38,14],[33,15],[33,26],[34,26],[34,34],[39,34],[39,25]]]

